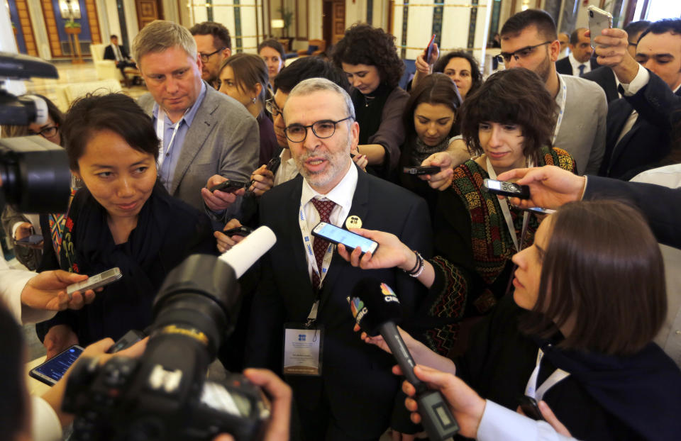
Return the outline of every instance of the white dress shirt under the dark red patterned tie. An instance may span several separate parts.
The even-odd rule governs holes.
[[[329,223],[333,223],[337,227],[342,227],[345,222],[345,218],[348,217],[350,213],[350,207],[353,205],[353,196],[355,196],[355,189],[357,188],[357,178],[358,172],[357,167],[353,162],[350,162],[348,167],[348,172],[345,172],[345,176],[338,182],[338,185],[333,187],[331,191],[327,194],[317,193],[310,184],[303,179],[303,191],[300,195],[300,206],[303,208],[303,213],[305,214],[305,220],[307,225],[307,230],[309,232],[319,223],[319,213],[317,209],[314,208],[314,204],[311,202],[315,197],[317,199],[329,199],[336,203],[333,207],[331,215],[328,216]],[[304,232],[301,229],[301,239],[304,238]],[[306,253],[305,258],[307,259],[307,271],[312,279],[312,262],[310,262],[309,255]]]

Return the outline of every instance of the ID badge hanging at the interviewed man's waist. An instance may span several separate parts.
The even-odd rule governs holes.
[[[284,324],[284,375],[321,375],[323,327]]]

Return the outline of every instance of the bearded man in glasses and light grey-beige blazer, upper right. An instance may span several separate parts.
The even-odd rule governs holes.
[[[556,72],[560,43],[553,18],[546,11],[516,13],[504,23],[501,34],[500,56],[506,69],[530,69],[555,98],[559,111],[553,146],[570,153],[580,173],[597,173],[605,149],[608,112],[603,90],[580,77]]]

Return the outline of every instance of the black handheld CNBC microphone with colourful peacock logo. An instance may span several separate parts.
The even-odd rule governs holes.
[[[360,328],[368,335],[380,333],[405,378],[414,385],[421,422],[428,437],[433,441],[443,441],[456,435],[459,425],[440,391],[428,389],[414,374],[416,363],[395,324],[402,319],[402,308],[392,289],[376,279],[362,279],[355,284],[348,302]]]

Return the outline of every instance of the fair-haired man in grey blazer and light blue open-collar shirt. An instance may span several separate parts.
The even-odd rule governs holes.
[[[234,216],[240,198],[209,189],[227,179],[250,181],[260,151],[255,118],[201,80],[201,57],[187,28],[154,21],[135,37],[133,54],[150,92],[138,104],[160,140],[165,188],[196,208],[205,204],[214,218]]]

